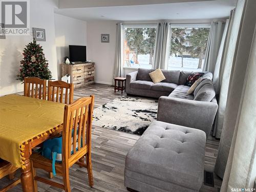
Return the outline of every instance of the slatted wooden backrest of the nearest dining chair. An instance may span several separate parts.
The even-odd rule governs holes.
[[[93,105],[94,96],[90,96],[65,106],[62,143],[66,150],[63,149],[62,158],[66,162],[71,159],[75,162],[74,158],[81,158],[80,150],[91,150]]]

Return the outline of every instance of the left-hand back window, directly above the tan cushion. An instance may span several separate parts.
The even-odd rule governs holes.
[[[123,66],[152,69],[156,25],[123,25]]]

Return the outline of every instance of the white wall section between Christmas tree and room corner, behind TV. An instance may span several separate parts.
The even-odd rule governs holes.
[[[87,22],[55,13],[54,23],[58,79],[61,79],[60,63],[69,56],[69,45],[87,45]]]

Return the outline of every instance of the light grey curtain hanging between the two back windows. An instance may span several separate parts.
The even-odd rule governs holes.
[[[170,45],[170,24],[159,23],[156,34],[155,55],[152,69],[167,69]]]

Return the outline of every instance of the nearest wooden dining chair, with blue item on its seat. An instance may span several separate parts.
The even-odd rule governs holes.
[[[55,163],[56,174],[63,177],[63,184],[36,176],[35,168],[52,172],[52,161],[39,153],[33,153],[30,156],[35,191],[37,191],[37,181],[40,181],[70,192],[69,167],[75,163],[80,167],[87,168],[89,185],[93,186],[91,162],[93,105],[94,96],[80,98],[72,104],[65,105],[62,130],[62,162]],[[72,141],[74,142],[72,143]],[[86,157],[86,163],[84,163],[84,156]]]

